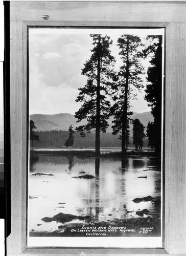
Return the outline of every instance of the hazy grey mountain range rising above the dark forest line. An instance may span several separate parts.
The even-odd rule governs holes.
[[[134,112],[131,116],[132,119],[138,118],[141,123],[146,127],[148,122],[153,122],[153,116],[150,112],[144,113],[136,113]],[[35,126],[37,127],[37,131],[52,131],[52,130],[62,130],[67,131],[69,126],[72,124],[74,129],[79,125],[83,125],[86,123],[86,120],[83,120],[77,123],[77,119],[74,115],[68,113],[61,113],[55,115],[43,115],[43,114],[33,114],[30,115],[30,120],[33,120]],[[112,132],[111,126],[113,117],[110,117],[108,120],[109,127],[107,132]],[[130,125],[130,131],[132,131],[132,125]]]

